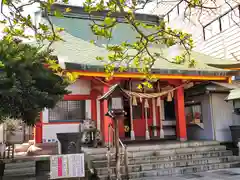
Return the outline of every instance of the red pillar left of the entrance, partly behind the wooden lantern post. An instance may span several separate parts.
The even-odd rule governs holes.
[[[109,86],[104,85],[103,86],[103,94],[106,93],[109,90]],[[108,103],[107,100],[104,100],[101,102],[101,120],[102,120],[102,135],[103,135],[103,141],[105,145],[108,145],[108,142],[112,143],[112,137],[113,133],[112,130],[110,131],[111,135],[110,138],[108,137],[108,126],[109,124],[112,124],[112,119],[108,116],[105,116],[105,114],[108,112]]]

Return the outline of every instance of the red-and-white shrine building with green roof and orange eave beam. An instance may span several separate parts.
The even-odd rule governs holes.
[[[66,5],[56,5],[56,8],[64,11]],[[37,143],[56,142],[57,133],[78,132],[79,124],[85,119],[95,121],[105,143],[111,141],[108,126],[112,120],[105,116],[108,105],[106,101],[100,102],[99,97],[115,84],[119,84],[130,97],[124,100],[127,114],[124,120],[119,121],[121,139],[186,141],[189,122],[185,115],[185,90],[207,81],[231,83],[236,73],[210,65],[227,64],[227,60],[197,52],[192,52],[195,67],[189,67],[187,63],[174,64],[169,62],[174,50],[161,48],[164,58],[157,59],[153,66],[152,74],[156,78],[152,82],[153,88],[137,88],[145,76],[136,69],[116,72],[110,80],[106,80],[104,64],[96,60],[96,56],[107,56],[108,52],[103,47],[106,41],[92,34],[91,20],[81,8],[71,9],[72,12],[65,13],[62,18],[51,18],[54,25],[65,29],[61,34],[65,41],[54,43],[53,49],[59,64],[69,72],[76,72],[79,78],[68,87],[71,94],[65,95],[54,109],[45,109],[41,113],[41,120],[36,124]],[[101,20],[101,13],[98,13],[92,18]],[[136,17],[150,24],[159,22],[159,17],[153,15],[138,14]],[[111,44],[134,42],[135,37],[135,32],[123,22],[113,30]],[[90,43],[92,39],[96,40],[95,45]],[[151,50],[159,52],[160,48],[151,47]],[[196,125],[203,123],[199,116],[201,113],[194,118]]]

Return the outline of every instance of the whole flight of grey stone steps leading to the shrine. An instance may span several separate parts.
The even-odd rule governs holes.
[[[108,179],[106,149],[87,151],[100,180]],[[114,152],[113,152],[114,153]],[[189,174],[208,170],[237,167],[240,158],[216,141],[172,142],[159,145],[128,146],[129,179],[144,180],[161,176]],[[125,168],[121,174],[125,176]],[[115,160],[110,172],[114,175]],[[123,178],[125,179],[125,178]]]

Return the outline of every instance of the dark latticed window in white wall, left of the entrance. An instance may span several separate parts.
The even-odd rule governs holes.
[[[86,101],[59,101],[49,109],[49,121],[79,121],[86,117]]]

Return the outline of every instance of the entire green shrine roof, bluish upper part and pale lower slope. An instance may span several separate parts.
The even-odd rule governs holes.
[[[55,55],[64,62],[65,68],[69,70],[87,70],[94,72],[103,72],[104,64],[96,60],[97,56],[107,57],[108,52],[103,48],[106,40],[97,39],[90,29],[91,20],[80,18],[56,18],[52,17],[54,25],[65,28],[61,36],[64,42],[53,43]],[[110,44],[119,44],[125,40],[134,42],[137,34],[128,24],[121,23],[113,30],[113,39]],[[97,45],[90,43],[90,40],[96,40]],[[218,64],[223,61],[201,53],[192,52],[192,58],[197,61],[194,68],[189,68],[188,64],[175,64],[168,62],[172,60],[169,57],[168,49],[152,47],[151,51],[162,53],[164,58],[159,58],[152,69],[152,73],[160,74],[185,74],[185,75],[212,75],[224,76],[233,74],[235,71],[223,70],[217,67],[207,65],[208,63]],[[130,72],[137,72],[136,69],[129,69]]]

